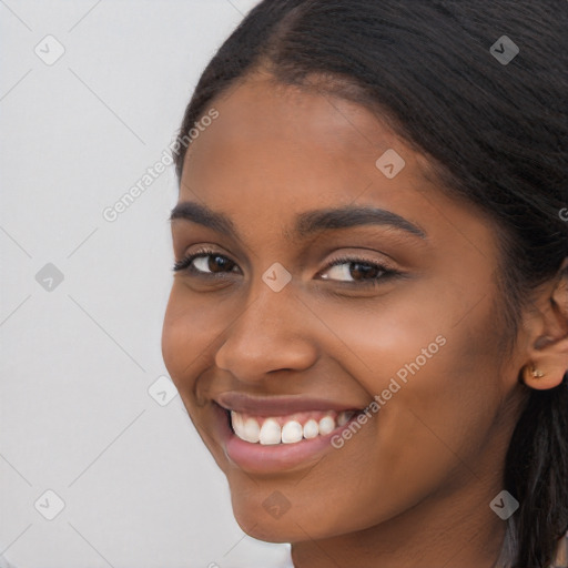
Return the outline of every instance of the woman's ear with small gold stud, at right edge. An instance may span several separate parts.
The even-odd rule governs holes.
[[[529,333],[523,381],[530,388],[558,386],[568,371],[568,257],[538,293],[525,328]]]

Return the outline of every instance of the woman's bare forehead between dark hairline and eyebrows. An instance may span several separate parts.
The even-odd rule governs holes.
[[[302,213],[346,205],[393,212],[458,256],[491,246],[479,211],[439,191],[427,158],[356,103],[253,75],[210,108],[219,116],[190,144],[179,201],[223,213],[254,247],[288,240]],[[377,160],[393,151],[404,166],[388,178]]]

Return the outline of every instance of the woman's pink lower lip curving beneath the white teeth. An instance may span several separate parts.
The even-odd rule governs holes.
[[[214,404],[220,425],[221,442],[226,457],[237,467],[253,474],[276,474],[284,469],[302,466],[314,458],[321,458],[322,454],[329,449],[336,449],[331,445],[334,436],[346,429],[357,415],[343,426],[335,428],[325,436],[316,436],[311,439],[302,439],[293,444],[252,444],[236,436],[229,425],[229,416],[224,408]]]

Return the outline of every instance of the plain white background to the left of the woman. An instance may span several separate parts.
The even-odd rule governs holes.
[[[286,551],[239,528],[180,397],[148,393],[166,375],[173,166],[102,216],[256,1],[0,1],[0,552],[18,568],[266,568]],[[54,52],[48,34],[65,50],[52,65],[34,53]]]

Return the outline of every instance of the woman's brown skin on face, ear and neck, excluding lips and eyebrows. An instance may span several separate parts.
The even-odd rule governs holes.
[[[212,106],[220,116],[190,146],[179,202],[226,214],[239,239],[175,220],[174,255],[206,244],[236,268],[210,256],[219,276],[175,274],[162,351],[227,477],[239,525],[255,538],[292,542],[296,568],[490,568],[506,526],[489,503],[503,489],[505,453],[528,393],[523,369],[534,362],[546,368],[539,388],[561,381],[568,339],[557,338],[566,318],[537,304],[504,358],[491,221],[446,196],[428,158],[365,109],[277,87],[265,73]],[[394,179],[375,166],[387,149],[406,162]],[[296,214],[346,204],[395,212],[427,237],[386,225],[293,234]],[[365,286],[373,276],[354,264],[326,268],[343,253],[404,277]],[[262,280],[275,262],[292,274],[278,293]],[[552,284],[539,297],[549,298]],[[549,351],[536,348],[547,334]],[[363,408],[438,335],[445,345],[323,458],[256,475],[232,463],[215,437],[220,393],[325,394]],[[280,518],[263,507],[275,490],[290,501]]]

